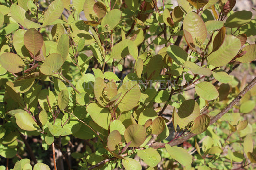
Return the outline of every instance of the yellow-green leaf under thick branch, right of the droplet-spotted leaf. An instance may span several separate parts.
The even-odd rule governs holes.
[[[171,158],[183,166],[190,165],[192,163],[191,155],[181,147],[171,147],[169,144],[165,144],[167,152],[171,155]]]

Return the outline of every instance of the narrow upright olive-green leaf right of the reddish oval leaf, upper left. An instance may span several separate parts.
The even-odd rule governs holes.
[[[69,37],[67,34],[62,34],[58,39],[56,53],[61,55],[63,61],[66,61],[69,53]]]

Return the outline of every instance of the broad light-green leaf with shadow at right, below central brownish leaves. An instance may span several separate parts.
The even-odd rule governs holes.
[[[111,113],[108,108],[100,106],[99,103],[90,103],[86,110],[95,123],[106,130],[109,129]]]

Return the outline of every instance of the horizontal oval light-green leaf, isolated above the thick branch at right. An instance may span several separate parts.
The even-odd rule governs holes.
[[[195,84],[195,92],[198,96],[207,101],[214,100],[219,96],[217,89],[209,82]]]

